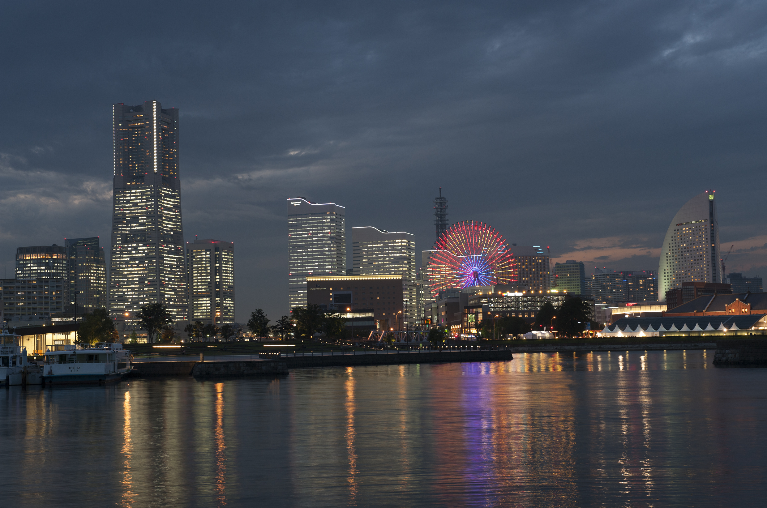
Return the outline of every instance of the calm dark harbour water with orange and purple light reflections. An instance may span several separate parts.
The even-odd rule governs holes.
[[[712,356],[12,387],[2,506],[764,506],[767,369]]]

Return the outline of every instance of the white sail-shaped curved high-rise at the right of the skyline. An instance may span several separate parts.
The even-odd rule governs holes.
[[[683,282],[723,282],[719,268],[719,222],[714,191],[693,197],[676,213],[663,239],[658,266],[658,299]]]

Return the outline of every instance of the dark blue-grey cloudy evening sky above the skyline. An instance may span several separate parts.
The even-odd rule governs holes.
[[[728,272],[767,277],[765,26],[750,1],[5,2],[0,264],[108,251],[111,104],[157,100],[186,239],[235,242],[239,322],[288,311],[292,196],[429,249],[442,186],[451,222],[657,269],[715,189]]]

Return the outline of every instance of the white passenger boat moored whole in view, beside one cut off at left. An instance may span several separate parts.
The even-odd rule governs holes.
[[[132,368],[130,351],[121,344],[64,345],[63,351],[45,351],[42,384],[113,383]]]

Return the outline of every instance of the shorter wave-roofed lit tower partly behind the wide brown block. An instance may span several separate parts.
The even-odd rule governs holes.
[[[402,275],[403,323],[414,329],[419,318],[416,298],[416,236],[371,226],[351,229],[354,275]]]

